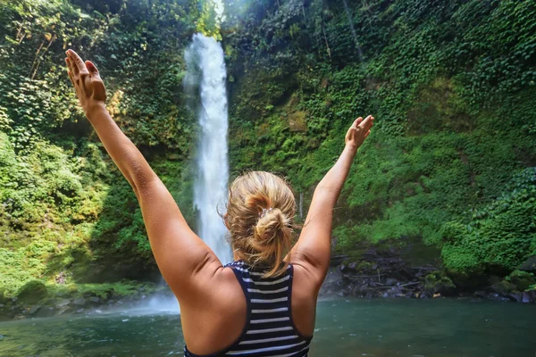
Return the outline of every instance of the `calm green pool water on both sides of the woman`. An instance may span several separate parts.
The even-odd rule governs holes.
[[[0,323],[0,356],[182,355],[176,314],[123,311]],[[318,304],[310,356],[536,356],[536,305],[460,300]]]

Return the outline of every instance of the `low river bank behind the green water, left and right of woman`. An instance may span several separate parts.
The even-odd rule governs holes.
[[[418,267],[413,270],[386,270],[384,266],[375,267],[372,263],[367,270],[364,265],[354,262],[341,262],[328,272],[321,290],[321,299],[332,297],[352,298],[406,298],[441,299],[454,298],[472,301],[494,300],[502,302],[536,303],[536,290],[520,291],[515,283],[500,280],[491,286],[461,290],[446,277],[440,277],[440,270],[431,267]],[[372,274],[369,270],[376,270]],[[380,273],[378,273],[380,271]],[[408,272],[412,271],[413,275]],[[440,277],[440,278],[438,278]],[[35,282],[35,280],[34,280]],[[34,295],[3,297],[0,301],[0,321],[23,320],[28,318],[51,318],[69,315],[98,315],[112,311],[154,310],[179,311],[172,292],[167,286],[155,283],[122,282],[121,284],[100,284],[49,289],[46,297],[42,286],[31,284]],[[40,286],[37,288],[37,286]],[[523,286],[522,286],[523,287]],[[38,289],[41,289],[38,292]]]

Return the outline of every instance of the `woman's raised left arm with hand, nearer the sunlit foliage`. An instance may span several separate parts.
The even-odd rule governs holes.
[[[147,235],[163,278],[179,299],[195,296],[198,273],[222,264],[188,227],[177,203],[156,176],[136,145],[132,144],[105,108],[106,90],[96,66],[83,62],[74,51],[65,61],[80,105],[113,162],[134,189]],[[208,272],[210,274],[210,272]]]

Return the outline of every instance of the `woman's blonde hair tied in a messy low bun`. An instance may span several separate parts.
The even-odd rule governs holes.
[[[281,275],[283,259],[293,244],[296,200],[284,179],[265,171],[250,171],[229,188],[223,216],[230,244],[251,266],[263,266],[264,277]]]

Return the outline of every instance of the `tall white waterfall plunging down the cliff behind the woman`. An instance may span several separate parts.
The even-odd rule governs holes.
[[[196,34],[185,52],[184,87],[197,99],[199,141],[194,205],[198,212],[197,234],[225,264],[232,261],[225,240],[227,228],[217,210],[227,203],[227,72],[222,45],[213,37]]]

